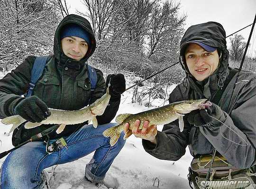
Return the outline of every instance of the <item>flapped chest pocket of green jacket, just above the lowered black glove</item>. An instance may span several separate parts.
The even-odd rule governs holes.
[[[45,75],[38,80],[34,94],[46,102],[48,107],[58,108],[61,96],[60,81],[57,77]]]

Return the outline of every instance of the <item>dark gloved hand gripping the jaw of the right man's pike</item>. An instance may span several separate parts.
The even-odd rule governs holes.
[[[195,110],[188,115],[188,122],[195,127],[221,125],[221,122],[224,120],[225,115],[223,111],[215,103],[212,103],[212,105],[205,110]]]

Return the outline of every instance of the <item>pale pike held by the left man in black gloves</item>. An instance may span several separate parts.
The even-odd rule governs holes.
[[[107,88],[106,94],[104,94],[101,98],[97,99],[90,106],[85,106],[80,110],[76,111],[64,111],[49,108],[51,115],[46,118],[46,120],[42,120],[42,122],[32,123],[27,122],[25,124],[26,129],[32,129],[41,124],[60,124],[60,127],[56,130],[56,133],[61,133],[66,125],[73,125],[82,123],[84,121],[92,121],[93,127],[97,128],[98,121],[96,119],[97,115],[102,115],[109,104],[110,101],[110,92],[109,87]],[[24,123],[25,119],[23,119],[19,115],[9,116],[1,120],[1,122],[5,125],[13,124],[9,133],[11,133],[14,129],[16,129],[20,124]]]

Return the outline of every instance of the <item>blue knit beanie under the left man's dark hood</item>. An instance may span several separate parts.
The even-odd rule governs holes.
[[[63,30],[60,34],[60,39],[62,40],[64,37],[75,36],[80,37],[86,41],[86,43],[90,46],[90,34],[86,32],[81,26],[76,24],[69,24],[64,26]]]

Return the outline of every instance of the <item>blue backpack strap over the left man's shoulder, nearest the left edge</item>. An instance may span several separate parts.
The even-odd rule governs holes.
[[[32,72],[31,72],[31,80],[29,83],[29,88],[28,88],[27,94],[25,94],[26,97],[31,96],[33,89],[37,83],[37,80],[43,74],[47,59],[48,59],[48,56],[40,56],[36,58],[35,63],[33,65]]]

